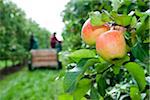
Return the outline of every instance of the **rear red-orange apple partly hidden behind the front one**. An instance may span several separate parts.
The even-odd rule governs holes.
[[[95,45],[96,38],[109,29],[110,27],[107,24],[102,26],[92,26],[89,18],[82,27],[81,37],[86,44]]]

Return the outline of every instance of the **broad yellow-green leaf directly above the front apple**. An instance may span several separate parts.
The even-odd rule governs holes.
[[[121,14],[117,14],[115,12],[111,13],[114,21],[116,24],[121,25],[121,26],[128,26],[131,23],[131,16],[128,15],[121,15]]]

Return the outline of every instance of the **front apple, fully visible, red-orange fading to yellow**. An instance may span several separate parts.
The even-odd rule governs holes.
[[[106,61],[113,62],[126,55],[126,42],[123,32],[109,30],[96,40],[96,51]]]

